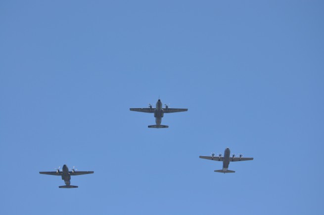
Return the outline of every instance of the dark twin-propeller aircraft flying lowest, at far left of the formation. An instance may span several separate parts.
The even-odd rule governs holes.
[[[40,172],[40,174],[50,174],[50,175],[57,175],[61,176],[62,180],[64,180],[65,186],[59,186],[59,188],[78,188],[78,186],[70,185],[71,175],[80,175],[80,174],[92,174],[93,171],[75,171],[77,169],[71,169],[72,171],[69,172],[69,168],[64,164],[62,170],[60,168],[55,169],[55,172]]]

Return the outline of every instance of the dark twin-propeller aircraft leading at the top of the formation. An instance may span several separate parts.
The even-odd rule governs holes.
[[[164,114],[183,112],[183,111],[188,110],[188,109],[181,109],[181,108],[169,108],[168,105],[166,105],[166,104],[165,104],[165,108],[162,108],[162,102],[160,99],[157,100],[155,109],[152,108],[151,104],[148,104],[148,105],[149,105],[148,108],[130,108],[130,110],[144,112],[144,113],[154,113],[156,125],[147,126],[147,127],[155,128],[155,129],[169,128],[169,126],[161,125],[162,118],[163,118]]]

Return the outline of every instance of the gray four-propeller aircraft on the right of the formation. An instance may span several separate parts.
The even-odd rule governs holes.
[[[230,154],[231,154],[230,148],[226,148],[225,152],[224,152],[224,157],[222,157],[222,154],[215,156],[215,153],[212,153],[212,156],[199,156],[199,158],[213,160],[213,161],[223,161],[223,169],[214,171],[214,172],[223,172],[223,173],[235,172],[235,171],[229,170],[230,162],[253,160],[253,158],[243,158],[242,154],[240,154],[239,157],[237,157],[237,158],[235,157],[234,154],[232,156],[230,156]]]

